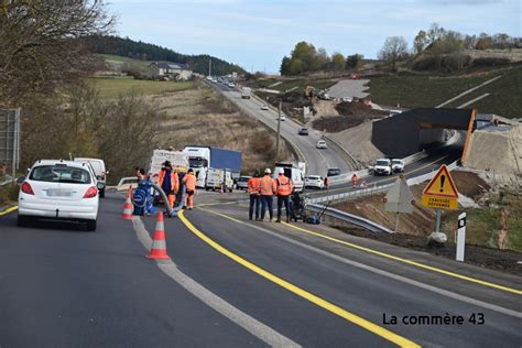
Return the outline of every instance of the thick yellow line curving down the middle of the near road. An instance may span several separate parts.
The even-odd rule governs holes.
[[[221,247],[220,244],[218,244],[217,242],[215,242],[213,239],[210,239],[209,237],[207,237],[205,233],[203,233],[202,231],[199,231],[196,227],[194,227],[194,225],[192,225],[191,221],[187,220],[187,218],[185,217],[183,210],[180,211],[177,214],[177,216],[180,217],[180,219],[183,221],[183,224],[185,224],[185,226],[194,233],[196,235],[199,239],[202,239],[203,241],[205,241],[207,244],[209,244],[210,247],[213,247],[214,249],[216,249],[217,251],[219,251],[220,253],[222,253],[224,255],[226,255],[227,258],[238,262],[239,264],[243,265],[244,268],[249,269],[250,271],[263,276],[264,279],[280,285],[281,287],[283,289],[286,289],[287,291],[296,294],[297,296],[301,296],[312,303],[314,303],[315,305],[333,313],[333,314],[336,314],[342,318],[345,318],[346,320],[352,323],[352,324],[356,324],[398,346],[401,346],[401,347],[420,347],[418,345],[416,345],[415,342],[409,340],[407,338],[404,338],[402,336],[399,336],[377,324],[373,324],[360,316],[357,316],[339,306],[336,306],[335,304],[326,301],[326,300],[323,300],[309,292],[307,292],[306,290],[303,290],[301,287],[297,287],[295,285],[293,285],[292,283],[261,269],[260,267],[251,263],[250,261],[247,261],[246,259],[241,258],[240,255],[238,254],[235,254],[233,252],[229,251],[228,249]]]

